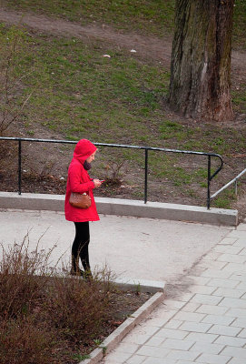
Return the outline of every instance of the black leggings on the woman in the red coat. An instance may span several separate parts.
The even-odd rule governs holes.
[[[72,247],[72,267],[74,272],[79,270],[79,258],[85,271],[90,271],[89,262],[89,243],[90,243],[90,229],[89,222],[74,222],[75,225],[75,238]]]

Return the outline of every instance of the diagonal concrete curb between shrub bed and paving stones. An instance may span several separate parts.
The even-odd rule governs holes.
[[[90,359],[83,360],[79,364],[96,364],[102,360],[105,354],[112,351],[125,337],[125,335],[127,335],[136,325],[145,319],[153,311],[153,308],[162,302],[163,298],[163,292],[156,292],[152,298],[143,303],[143,306],[133,312],[133,315],[130,318],[126,319],[122,325],[104,339],[99,348],[94,349],[91,352]]]

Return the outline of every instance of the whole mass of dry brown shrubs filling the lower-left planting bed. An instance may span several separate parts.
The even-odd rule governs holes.
[[[27,243],[27,244],[25,244]],[[84,280],[49,267],[50,254],[22,244],[0,262],[0,363],[75,363],[73,352],[90,345],[110,315],[111,272]],[[65,358],[65,359],[64,359]]]

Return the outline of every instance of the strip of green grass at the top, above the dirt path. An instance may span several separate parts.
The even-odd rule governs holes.
[[[92,22],[113,25],[124,32],[144,35],[171,35],[175,0],[2,0],[3,4],[24,12],[62,17],[88,25]],[[246,4],[236,0],[233,45],[246,48]]]

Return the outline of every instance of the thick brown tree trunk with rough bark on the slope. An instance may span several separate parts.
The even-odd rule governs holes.
[[[176,0],[169,103],[183,116],[230,121],[234,0]]]

